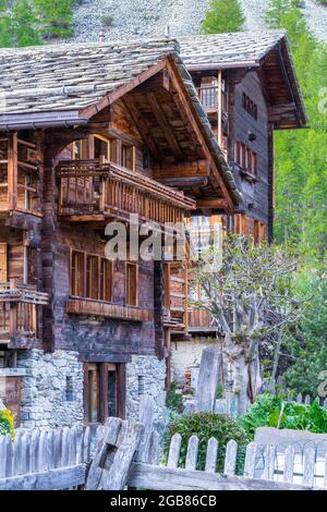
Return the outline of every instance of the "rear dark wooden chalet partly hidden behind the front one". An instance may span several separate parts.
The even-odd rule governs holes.
[[[215,196],[197,200],[193,228],[274,236],[274,132],[305,127],[307,117],[284,32],[199,35],[180,38],[181,58],[192,75],[218,145],[242,200],[232,216],[220,215]],[[192,287],[193,298],[199,296]],[[173,378],[199,361],[207,338],[219,334],[205,310],[189,312],[193,340],[173,343]]]

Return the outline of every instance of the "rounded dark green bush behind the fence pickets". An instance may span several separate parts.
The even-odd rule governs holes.
[[[197,470],[204,470],[206,447],[211,437],[215,437],[219,443],[218,471],[222,470],[225,448],[230,439],[234,439],[241,447],[245,446],[249,441],[243,428],[233,419],[214,413],[193,413],[174,418],[168,425],[168,432],[165,439],[166,458],[168,455],[171,437],[177,432],[182,436],[180,458],[182,465],[185,463],[190,437],[193,435],[198,437]]]

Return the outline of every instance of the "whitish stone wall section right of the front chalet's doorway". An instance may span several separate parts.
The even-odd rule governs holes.
[[[166,423],[166,364],[155,356],[133,355],[126,365],[126,416],[138,419],[140,400],[143,395],[155,400],[155,423],[159,428]]]

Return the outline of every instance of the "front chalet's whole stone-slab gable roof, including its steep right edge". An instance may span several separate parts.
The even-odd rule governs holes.
[[[106,96],[131,90],[141,75],[170,58],[175,63],[193,115],[234,202],[241,200],[175,39],[48,45],[0,50],[0,130],[86,124]],[[164,64],[162,64],[164,65]],[[129,89],[126,89],[129,87]],[[107,101],[108,105],[108,101]],[[94,112],[93,112],[94,113]]]

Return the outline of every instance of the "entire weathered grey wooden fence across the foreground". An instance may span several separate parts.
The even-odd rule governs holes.
[[[86,490],[126,486],[149,490],[327,489],[327,450],[318,453],[312,443],[304,446],[299,470],[299,450],[293,446],[281,451],[274,444],[251,442],[244,448],[230,440],[227,447],[219,447],[211,438],[204,453],[199,439],[192,436],[181,463],[182,437],[175,434],[164,464],[153,422],[154,401],[145,398],[138,423],[110,417],[93,434],[89,428],[65,427],[19,432],[14,441],[10,436],[0,437],[0,490],[80,486]],[[241,464],[240,455],[244,458]]]

